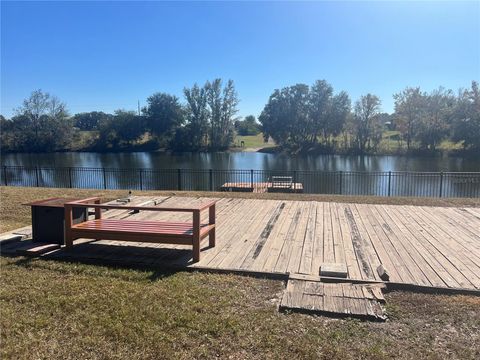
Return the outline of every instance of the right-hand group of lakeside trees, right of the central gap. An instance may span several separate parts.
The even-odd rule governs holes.
[[[407,87],[394,94],[395,112],[381,112],[374,94],[362,95],[353,106],[345,91],[335,93],[325,80],[275,90],[259,121],[263,135],[292,151],[319,149],[375,153],[386,127],[411,150],[435,151],[441,141],[461,142],[480,150],[480,93],[473,81],[458,94],[438,88],[430,93]]]

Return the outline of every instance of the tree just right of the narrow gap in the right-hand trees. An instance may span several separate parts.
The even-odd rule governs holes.
[[[422,93],[419,87],[407,87],[402,92],[394,94],[393,98],[396,126],[407,142],[407,149],[410,149],[424,116],[426,94]]]

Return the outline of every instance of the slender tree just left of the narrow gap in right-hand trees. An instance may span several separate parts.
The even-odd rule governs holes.
[[[355,135],[361,152],[376,147],[381,139],[382,126],[379,122],[380,99],[372,94],[361,96],[355,103]]]

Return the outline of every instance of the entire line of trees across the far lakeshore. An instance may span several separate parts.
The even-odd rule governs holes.
[[[407,87],[393,95],[393,114],[381,112],[374,94],[353,105],[347,92],[335,92],[325,80],[274,90],[258,122],[241,120],[234,82],[221,79],[184,88],[183,101],[158,92],[140,111],[117,110],[70,116],[65,103],[34,91],[7,120],[0,116],[1,150],[41,152],[71,150],[82,133],[94,134],[80,149],[93,151],[169,148],[178,151],[224,150],[235,134],[263,132],[289,152],[375,153],[385,130],[409,150],[435,151],[449,139],[465,149],[480,151],[480,91],[438,88],[431,92]],[[75,149],[74,149],[75,150]]]

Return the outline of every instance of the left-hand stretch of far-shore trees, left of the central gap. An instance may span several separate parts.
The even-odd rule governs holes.
[[[79,131],[97,134],[89,150],[129,149],[141,143],[149,149],[182,151],[223,150],[234,140],[238,95],[232,80],[207,81],[185,88],[184,102],[158,92],[147,98],[140,112],[117,110],[70,116],[65,103],[41,90],[15,109],[7,120],[1,117],[3,151],[41,152],[71,149]],[[248,122],[248,121],[247,121]]]

